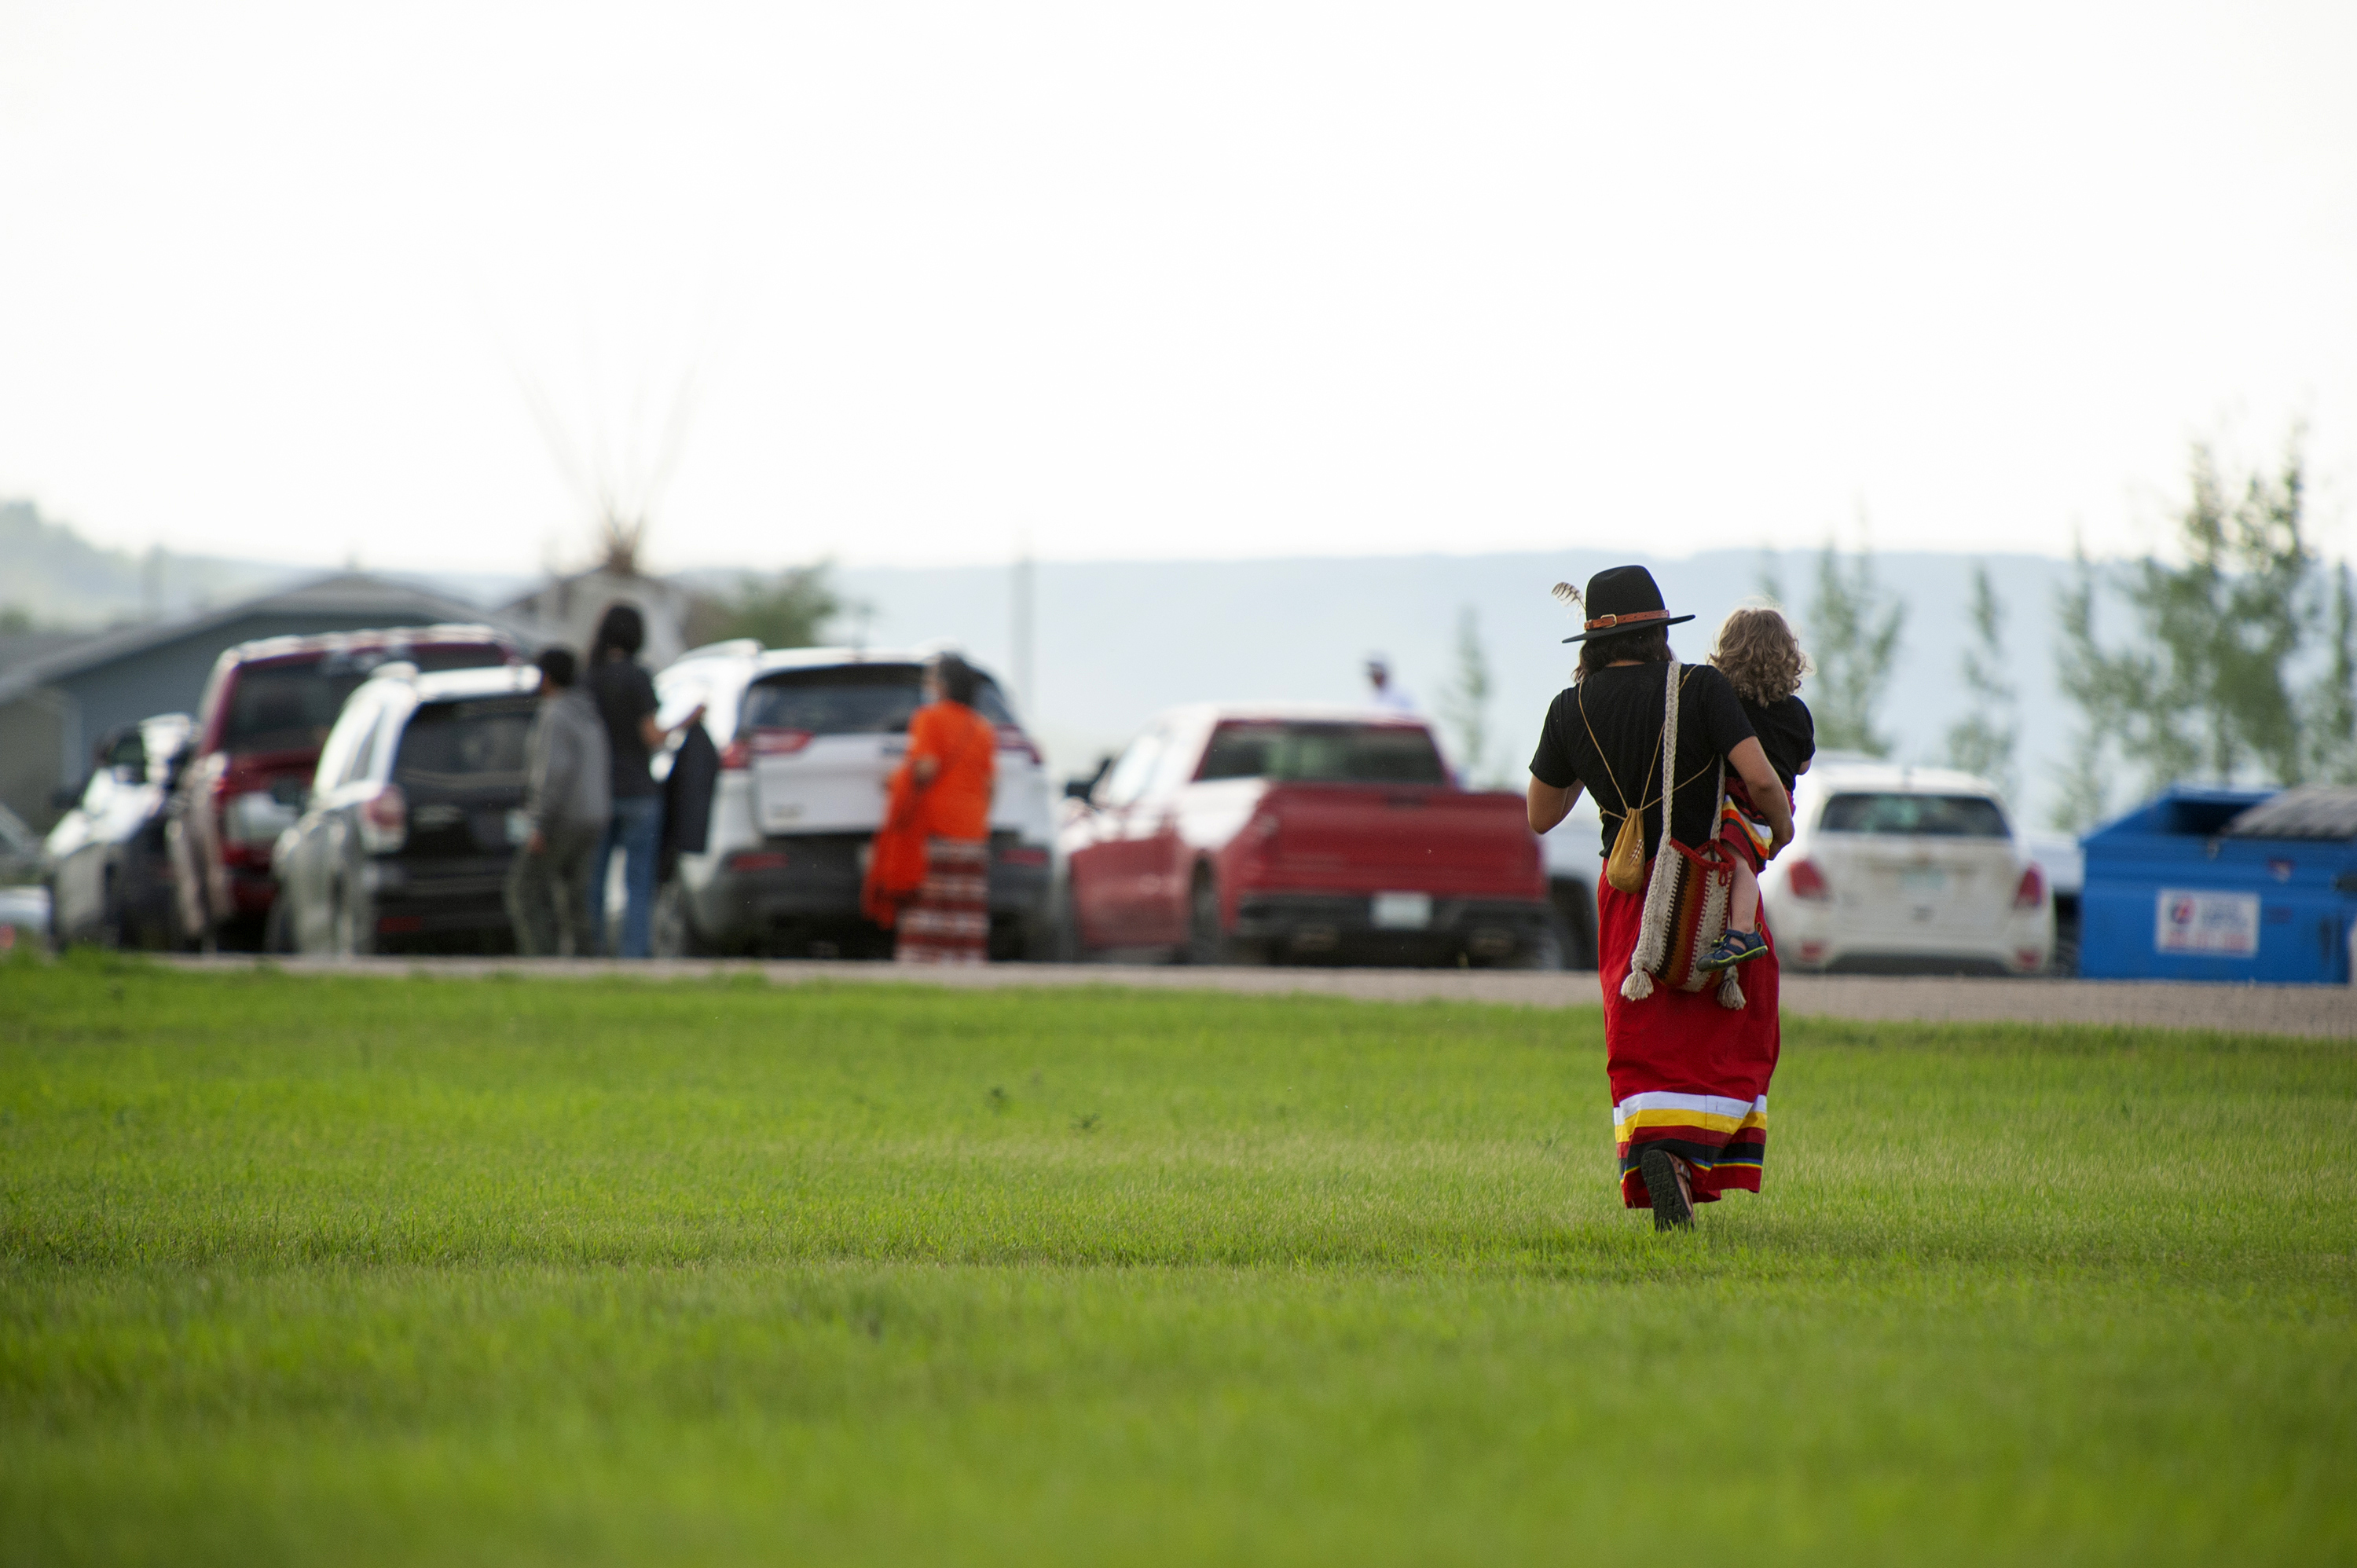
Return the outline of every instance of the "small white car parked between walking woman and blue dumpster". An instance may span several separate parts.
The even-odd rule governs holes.
[[[1761,896],[1789,969],[2041,974],[2055,946],[2046,872],[1996,788],[1947,769],[1822,757]]]

